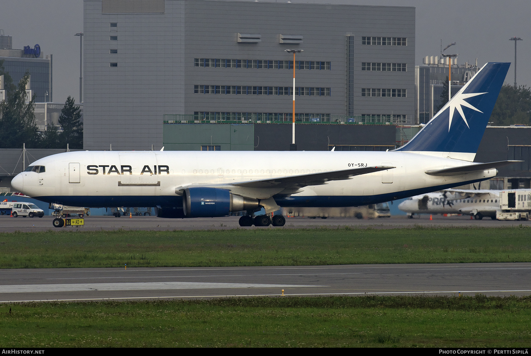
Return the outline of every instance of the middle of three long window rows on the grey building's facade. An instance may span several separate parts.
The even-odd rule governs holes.
[[[290,86],[194,85],[194,94],[293,95]],[[330,96],[330,88],[295,87],[295,95]]]

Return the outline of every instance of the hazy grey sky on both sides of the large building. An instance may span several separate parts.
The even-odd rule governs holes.
[[[487,61],[514,61],[514,44],[518,41],[518,84],[531,84],[531,1],[529,0],[292,0],[298,3],[332,3],[352,5],[387,5],[416,7],[416,57],[440,53],[451,42],[457,46],[458,63],[478,64]],[[64,102],[79,96],[79,37],[83,30],[81,0],[0,0],[0,29],[13,36],[13,48],[33,47],[39,43],[44,54],[54,55],[54,101]],[[514,82],[511,65],[506,81]]]

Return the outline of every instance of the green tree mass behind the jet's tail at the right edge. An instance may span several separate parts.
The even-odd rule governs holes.
[[[492,110],[494,126],[509,126],[514,123],[531,124],[531,90],[525,85],[515,88],[503,85]]]

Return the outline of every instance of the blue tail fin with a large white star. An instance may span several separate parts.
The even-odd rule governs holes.
[[[396,150],[474,156],[509,66],[485,64],[413,139]]]

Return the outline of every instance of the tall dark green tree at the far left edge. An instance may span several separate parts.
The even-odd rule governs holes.
[[[6,100],[0,102],[0,148],[22,148],[23,143],[29,148],[39,145],[39,129],[35,124],[34,112],[35,95],[26,102],[29,77],[29,72],[26,72],[18,86],[8,84]]]

